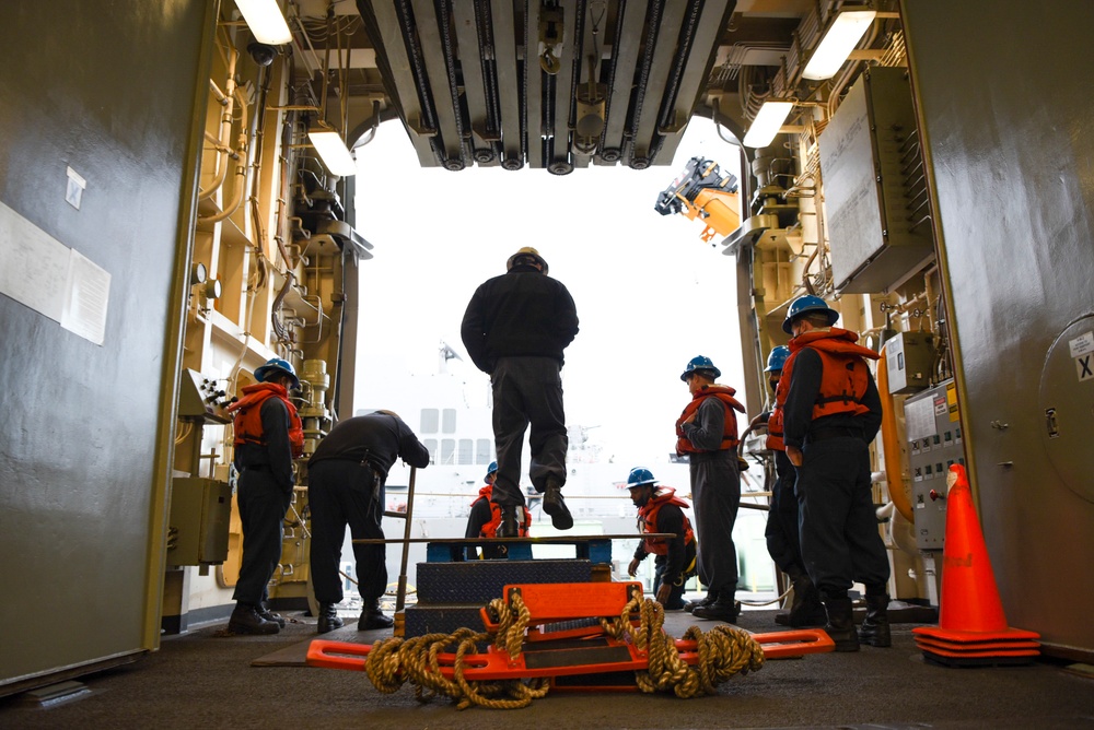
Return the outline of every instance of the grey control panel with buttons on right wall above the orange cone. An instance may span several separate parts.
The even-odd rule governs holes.
[[[946,475],[952,464],[965,463],[957,387],[946,380],[908,398],[904,414],[916,545],[920,550],[942,550],[946,535]]]

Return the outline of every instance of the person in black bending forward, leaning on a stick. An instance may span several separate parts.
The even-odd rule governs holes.
[[[346,526],[353,540],[383,539],[384,485],[396,459],[424,469],[429,451],[398,414],[374,411],[335,425],[307,461],[312,585],[319,602],[321,634],[342,625],[335,604],[342,600],[338,566]],[[380,608],[387,589],[387,546],[354,542],[353,557],[364,600],[358,631],[388,628],[394,621]]]

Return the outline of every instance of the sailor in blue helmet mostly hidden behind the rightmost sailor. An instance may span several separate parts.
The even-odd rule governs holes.
[[[764,372],[768,376],[772,397],[779,386],[782,365],[790,355],[790,348],[780,344],[771,349]],[[827,620],[821,597],[810,580],[802,560],[801,540],[798,537],[798,496],[794,494],[794,466],[787,458],[782,444],[782,409],[776,404],[770,411],[752,420],[749,427],[767,426],[767,448],[775,455],[775,487],[771,490],[771,509],[767,514],[767,552],[771,560],[790,578],[794,599],[787,622],[795,628],[823,626]]]

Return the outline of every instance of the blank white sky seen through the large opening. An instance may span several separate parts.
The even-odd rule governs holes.
[[[423,169],[403,127],[381,125],[357,149],[357,227],[374,245],[361,270],[369,351],[359,357],[357,408],[381,408],[408,374],[437,373],[442,342],[462,356],[449,370],[485,398],[489,377],[467,357],[461,320],[475,289],[534,246],[580,320],[562,370],[568,425],[592,427],[592,440],[617,459],[666,459],[690,399],[679,376],[691,357],[713,360],[719,382],[744,400],[735,259],[701,240],[699,221],[654,210],[693,156],[740,178],[736,148],[698,117],[672,165],[591,166],[567,176]],[[746,405],[749,414],[759,407]]]

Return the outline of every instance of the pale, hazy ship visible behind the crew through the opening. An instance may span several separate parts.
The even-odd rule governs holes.
[[[451,354],[450,354],[451,353]],[[386,485],[385,537],[393,541],[407,535],[405,517],[409,515],[411,539],[444,540],[463,538],[472,502],[478,496],[487,467],[494,460],[493,431],[491,425],[490,387],[484,377],[466,378],[459,367],[450,367],[449,361],[457,355],[441,343],[437,373],[406,375],[401,381],[384,384],[388,400],[375,408],[358,409],[357,414],[371,413],[377,408],[393,410],[406,421],[429,449],[430,464],[415,470],[412,502],[408,499],[410,469],[396,461]],[[477,370],[476,370],[477,374]],[[478,374],[477,374],[478,375]],[[647,463],[619,463],[609,445],[600,441],[595,426],[571,424],[567,426],[567,481],[563,496],[573,515],[573,528],[561,532],[551,526],[550,517],[539,507],[539,497],[527,481],[529,452],[525,443],[522,457],[524,482],[522,486],[532,511],[532,537],[569,534],[636,535],[633,539],[613,541],[612,570],[615,579],[630,579],[627,565],[638,544],[637,510],[630,502],[627,475],[632,467],[650,469],[657,481],[674,486],[680,496],[690,501],[688,463],[666,449]],[[761,471],[763,462],[756,461],[753,472]],[[743,502],[754,507],[767,504],[763,492],[763,478],[744,472],[742,488],[759,493]],[[409,509],[408,509],[409,508]],[[777,598],[775,565],[764,541],[767,513],[744,508],[734,529],[741,570],[738,598],[746,601],[770,602]],[[351,540],[347,531],[342,548],[342,573],[346,576],[346,600],[339,610],[353,613],[359,605],[359,594],[353,584]],[[572,557],[572,545],[538,544],[533,546],[534,557]],[[426,561],[426,544],[410,544],[407,562],[407,602],[414,602],[416,566]],[[396,602],[395,591],[401,570],[401,545],[387,546],[388,593],[386,604]],[[652,589],[653,561],[644,561],[638,579],[647,590]],[[689,590],[699,590],[695,578]],[[275,589],[276,594],[276,589]]]

